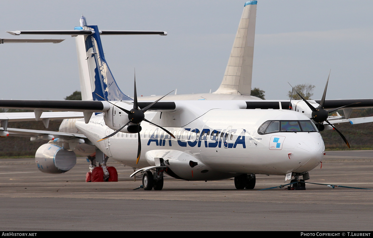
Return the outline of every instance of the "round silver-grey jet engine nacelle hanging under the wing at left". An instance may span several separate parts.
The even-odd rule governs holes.
[[[35,162],[43,173],[65,173],[76,164],[76,155],[58,145],[44,144],[36,151]]]

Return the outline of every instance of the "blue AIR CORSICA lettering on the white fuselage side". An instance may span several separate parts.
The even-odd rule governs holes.
[[[210,131],[210,129],[202,129],[202,131],[200,131],[199,129],[191,130],[191,128],[185,128],[184,130],[185,131],[180,131],[179,134],[178,134],[178,137],[177,137],[178,138],[178,140],[177,140],[178,145],[181,146],[181,147],[187,147],[187,146],[201,147],[201,146],[204,146],[206,148],[207,147],[209,147],[209,148],[216,148],[216,147],[221,148],[222,144],[223,144],[223,146],[226,147],[226,148],[236,148],[237,145],[242,145],[243,148],[246,148],[246,144],[245,144],[246,130],[245,129],[242,130],[241,134],[239,134],[239,136],[236,138],[234,143],[233,143],[233,141],[232,141],[232,143],[229,143],[228,140],[229,140],[229,137],[231,137],[230,139],[232,140],[232,136],[237,131],[236,129],[227,130],[227,133],[225,135],[224,135],[224,133],[226,131],[225,129],[224,130],[215,129],[215,130],[212,130],[212,131]],[[210,132],[211,132],[211,135],[210,135]],[[200,136],[198,136],[198,135],[200,135]],[[214,142],[208,142],[207,141],[208,136],[210,136],[211,141],[214,141]],[[153,134],[151,134],[147,145],[151,145],[151,143],[153,143],[153,145],[156,144],[157,146],[165,146],[166,145],[166,140],[168,140],[169,146],[172,146],[172,140],[171,139],[172,138],[166,133],[161,133],[159,135],[159,133],[156,129],[156,131],[154,131]]]

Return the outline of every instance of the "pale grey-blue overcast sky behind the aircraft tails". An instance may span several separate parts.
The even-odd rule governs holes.
[[[102,36],[105,58],[125,94],[215,91],[225,72],[245,1],[3,1],[5,31],[68,30],[88,25],[104,30],[167,31],[167,36]],[[320,99],[331,69],[326,99],[373,98],[373,1],[259,0],[252,88],[266,99],[287,99],[290,86],[313,84]],[[62,100],[80,90],[75,39],[60,44],[1,44],[3,99]]]

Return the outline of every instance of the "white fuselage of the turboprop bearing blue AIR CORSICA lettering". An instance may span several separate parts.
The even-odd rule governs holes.
[[[145,117],[151,120],[154,115],[147,113]],[[95,142],[113,132],[105,125],[102,114],[93,116],[88,124],[78,120],[76,127],[107,156],[131,167],[153,166],[153,162],[145,159],[145,153],[153,150],[182,151],[222,173],[285,175],[307,172],[319,165],[325,152],[319,132],[258,134],[259,126],[267,120],[309,119],[289,110],[213,109],[185,126],[165,127],[176,139],[142,122],[142,149],[137,165],[137,134],[119,132]]]

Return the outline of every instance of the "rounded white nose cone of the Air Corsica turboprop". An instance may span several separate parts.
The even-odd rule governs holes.
[[[308,133],[295,146],[293,158],[299,167],[293,172],[304,173],[314,169],[323,160],[324,153],[325,145],[320,133]]]

